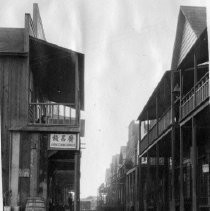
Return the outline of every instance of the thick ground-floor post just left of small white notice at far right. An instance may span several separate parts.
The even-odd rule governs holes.
[[[197,200],[197,140],[196,140],[197,125],[195,117],[192,118],[192,207],[193,211],[198,211]]]

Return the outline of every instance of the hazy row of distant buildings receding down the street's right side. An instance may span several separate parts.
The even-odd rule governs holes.
[[[127,145],[121,146],[120,154],[112,158],[107,171],[111,173],[106,175],[105,186],[99,188],[99,204],[103,206],[98,206],[98,210],[129,211],[138,207],[138,128],[138,122],[130,123]]]

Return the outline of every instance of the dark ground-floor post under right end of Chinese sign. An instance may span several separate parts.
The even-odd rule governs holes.
[[[75,167],[74,167],[74,211],[80,211],[80,152],[76,152],[74,155]]]

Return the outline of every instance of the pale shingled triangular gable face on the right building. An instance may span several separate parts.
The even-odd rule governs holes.
[[[181,62],[184,60],[184,58],[189,53],[192,46],[195,44],[196,40],[197,37],[195,32],[190,26],[190,23],[187,20],[185,20],[178,65],[180,65]]]

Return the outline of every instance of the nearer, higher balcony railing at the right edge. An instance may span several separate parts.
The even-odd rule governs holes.
[[[180,118],[185,118],[209,97],[209,74],[205,74],[200,81],[182,98]]]

